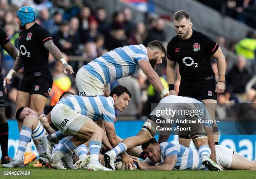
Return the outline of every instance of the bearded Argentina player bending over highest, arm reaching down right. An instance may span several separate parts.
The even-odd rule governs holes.
[[[110,92],[111,81],[127,77],[139,69],[162,96],[169,95],[154,71],[166,56],[166,50],[160,41],[151,41],[148,46],[123,46],[98,57],[77,72],[76,84],[80,96],[105,95]]]

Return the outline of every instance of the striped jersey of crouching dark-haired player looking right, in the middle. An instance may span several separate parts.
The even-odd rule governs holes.
[[[78,96],[69,95],[62,98],[57,104],[64,104],[72,110],[97,121],[101,117],[104,121],[114,123],[115,109],[112,97],[98,96]]]

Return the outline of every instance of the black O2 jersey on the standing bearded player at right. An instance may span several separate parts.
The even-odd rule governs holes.
[[[218,48],[211,38],[193,30],[192,36],[186,40],[175,36],[169,41],[167,57],[178,62],[182,83],[215,82],[210,59]]]

